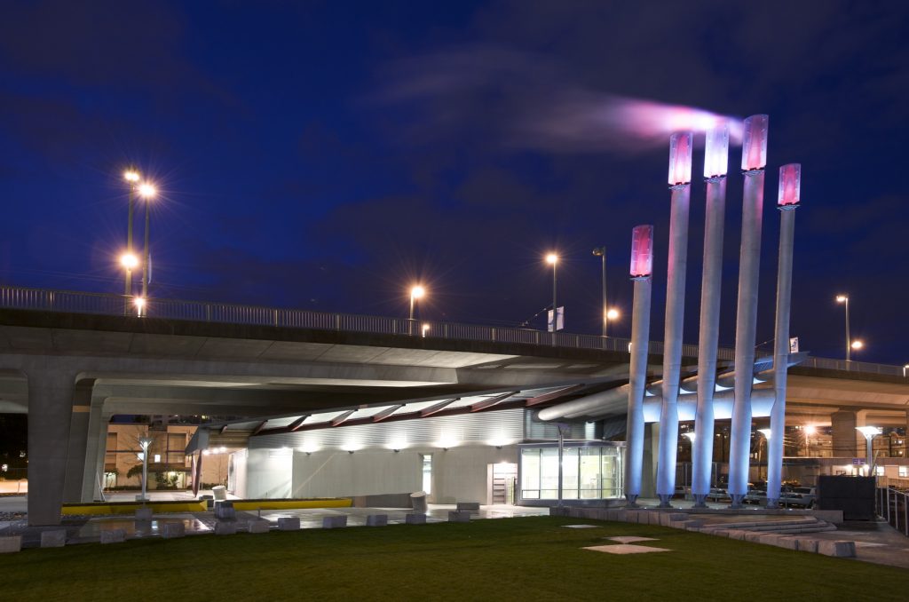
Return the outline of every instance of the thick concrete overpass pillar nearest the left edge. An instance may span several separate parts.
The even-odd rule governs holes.
[[[35,362],[28,377],[28,524],[59,525],[75,373]]]

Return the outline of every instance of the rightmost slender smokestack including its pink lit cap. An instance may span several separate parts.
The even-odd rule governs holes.
[[[801,201],[802,166],[780,167],[780,188],[776,206],[780,210],[780,255],[776,270],[776,326],[774,330],[774,406],[770,409],[770,431],[783,433],[786,416],[786,370],[789,367],[789,317],[792,309],[793,241],[795,212]],[[780,499],[783,473],[783,437],[767,441],[767,507]]]

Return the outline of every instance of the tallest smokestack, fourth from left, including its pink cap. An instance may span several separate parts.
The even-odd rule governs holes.
[[[744,120],[742,247],[739,254],[735,317],[735,401],[729,437],[729,495],[733,499],[733,507],[742,507],[742,500],[748,492],[748,467],[751,459],[751,393],[757,327],[757,285],[761,264],[764,166],[767,163],[767,122],[767,115],[752,115]]]

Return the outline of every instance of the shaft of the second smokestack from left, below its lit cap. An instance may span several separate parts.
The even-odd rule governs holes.
[[[669,217],[669,266],[666,274],[666,320],[663,347],[663,406],[660,412],[660,450],[656,468],[656,495],[660,507],[670,507],[675,493],[675,456],[678,449],[679,379],[682,372],[684,280],[688,261],[688,206],[691,186],[674,186]]]

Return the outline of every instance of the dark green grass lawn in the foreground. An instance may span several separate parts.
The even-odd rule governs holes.
[[[570,529],[584,523],[597,528]],[[584,550],[655,537],[671,552]],[[6,600],[906,599],[909,571],[677,529],[564,517],[29,549]]]

